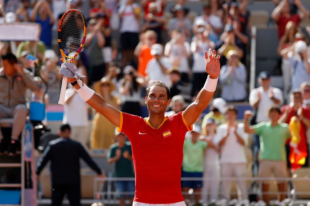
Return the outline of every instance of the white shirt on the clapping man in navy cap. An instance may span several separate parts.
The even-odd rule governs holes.
[[[270,86],[267,91],[264,91],[263,87],[260,86],[258,88],[255,88],[250,93],[249,102],[252,106],[255,101],[258,99],[258,92],[260,93],[260,101],[257,107],[257,114],[256,114],[256,122],[263,122],[263,121],[269,121],[269,117],[267,116],[268,109],[275,105],[275,103],[272,101],[272,99],[269,98],[268,94],[270,90],[273,91],[274,98],[278,99],[280,101],[280,104],[277,106],[280,107],[280,105],[283,104],[283,95],[282,91],[276,87]]]

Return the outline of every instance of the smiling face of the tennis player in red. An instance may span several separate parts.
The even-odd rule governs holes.
[[[166,88],[158,85],[151,86],[148,96],[145,97],[148,111],[152,114],[164,114],[166,107],[170,105],[170,100]]]

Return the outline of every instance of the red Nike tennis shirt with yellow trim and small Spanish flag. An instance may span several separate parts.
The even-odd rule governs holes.
[[[121,112],[118,132],[131,142],[135,168],[135,201],[170,204],[183,201],[181,166],[188,127],[183,111],[165,117],[154,129],[147,118]]]

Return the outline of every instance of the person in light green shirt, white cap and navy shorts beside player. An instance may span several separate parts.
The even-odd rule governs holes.
[[[185,139],[184,141],[182,177],[202,178],[204,150],[207,148],[208,143],[199,139],[200,132],[201,128],[194,124],[191,138]],[[191,188],[195,192],[195,205],[198,204],[201,199],[201,187],[201,180],[182,181],[182,190],[184,191],[183,196],[186,205],[189,204],[188,190]]]

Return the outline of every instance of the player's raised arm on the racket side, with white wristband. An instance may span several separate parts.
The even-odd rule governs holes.
[[[75,82],[76,79],[74,78],[68,78],[68,82]],[[76,90],[78,90],[78,93],[81,95],[81,93],[79,91],[81,91],[81,87],[76,84],[74,85],[74,88]],[[85,92],[92,92],[92,96],[90,97],[90,99],[88,99],[86,101],[86,103],[88,103],[92,108],[94,108],[96,111],[98,111],[99,113],[101,113],[105,118],[107,118],[112,124],[114,124],[115,126],[119,127],[120,126],[120,121],[121,121],[121,113],[119,110],[117,110],[116,108],[112,107],[111,105],[109,105],[100,95],[98,95],[97,93],[93,93],[93,90],[89,89],[88,87],[86,87],[86,85],[83,86],[84,91]],[[91,93],[90,93],[91,94]],[[82,95],[81,95],[82,97]],[[82,99],[84,99],[82,97]],[[84,99],[85,101],[85,99]]]

